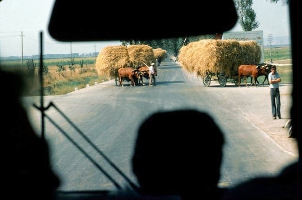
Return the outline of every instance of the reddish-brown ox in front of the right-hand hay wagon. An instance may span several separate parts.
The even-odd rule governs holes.
[[[261,65],[240,65],[238,67],[238,86],[240,87],[241,84],[241,78],[244,76],[244,81],[247,86],[247,77],[253,77],[254,78],[254,83],[251,85],[255,84],[258,82],[258,76],[259,74],[265,73],[265,67]],[[255,84],[255,86],[257,86]]]

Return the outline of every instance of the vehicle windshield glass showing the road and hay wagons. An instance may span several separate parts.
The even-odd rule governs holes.
[[[252,31],[243,31],[237,23],[223,33],[153,41],[59,42],[47,31],[53,4],[2,1],[0,56],[4,70],[26,74],[22,102],[36,133],[49,144],[50,163],[61,180],[58,190],[139,187],[132,168],[137,134],[143,121],[157,112],[189,109],[213,118],[225,140],[221,188],[276,175],[298,159],[296,141],[286,126],[292,106],[288,5],[254,1],[259,26]],[[173,29],[173,24],[161,26]],[[257,79],[241,74],[242,64],[262,67],[263,74]],[[272,65],[281,77],[277,114],[267,76]],[[130,76],[120,76],[118,69],[128,67]],[[138,71],[140,67],[147,68]],[[150,67],[155,75],[150,75]],[[154,124],[154,131],[181,130],[198,136],[196,146],[209,143],[204,139],[212,134],[208,124],[182,120],[190,128],[167,118]],[[187,145],[178,148],[186,152]],[[150,146],[157,147],[156,141]],[[206,165],[203,154],[190,164]]]

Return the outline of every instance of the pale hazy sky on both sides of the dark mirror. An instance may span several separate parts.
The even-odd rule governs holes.
[[[120,41],[58,42],[48,33],[48,23],[55,0],[2,0],[0,2],[0,57],[40,54],[40,33],[43,33],[43,54],[93,53],[102,48],[120,45]],[[262,30],[264,45],[268,35],[272,44],[290,41],[288,6],[282,1],[254,0],[253,10]],[[242,31],[239,24],[230,31]],[[280,39],[282,38],[282,39]],[[285,39],[284,39],[285,38]]]

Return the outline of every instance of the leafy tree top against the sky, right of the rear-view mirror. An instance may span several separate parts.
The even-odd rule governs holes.
[[[238,12],[238,22],[243,31],[252,31],[259,27],[256,13],[252,9],[253,0],[234,0],[234,4]]]

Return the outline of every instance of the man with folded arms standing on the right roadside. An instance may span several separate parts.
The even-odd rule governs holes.
[[[277,73],[277,68],[275,65],[271,67],[271,72],[268,74],[268,82],[270,88],[270,97],[271,97],[271,105],[272,105],[272,114],[273,120],[281,119],[280,114],[280,91],[279,91],[279,82],[281,82],[281,78]]]

